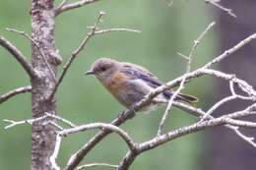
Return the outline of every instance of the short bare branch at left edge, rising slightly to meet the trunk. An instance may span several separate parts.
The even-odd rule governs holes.
[[[0,95],[0,103],[5,102],[6,100],[10,99],[11,97],[13,97],[17,94],[21,94],[21,93],[25,93],[25,92],[31,92],[31,91],[32,91],[32,86],[31,85],[15,88],[13,90],[8,91],[5,94]]]

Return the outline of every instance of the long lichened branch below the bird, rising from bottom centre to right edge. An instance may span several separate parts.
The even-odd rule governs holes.
[[[255,106],[255,105],[254,105]],[[139,144],[137,152],[133,154],[131,151],[128,151],[128,153],[124,156],[121,163],[119,164],[117,170],[127,170],[129,169],[130,165],[133,163],[137,155],[141,154],[142,152],[145,152],[147,150],[153,149],[160,144],[163,144],[165,142],[173,141],[177,138],[186,136],[188,134],[196,133],[199,131],[205,131],[207,129],[215,128],[222,125],[228,125],[228,123],[240,125],[242,127],[249,127],[249,128],[256,128],[256,125],[254,123],[250,122],[236,122],[235,120],[232,120],[233,118],[240,118],[242,116],[246,116],[249,113],[247,112],[247,109],[243,110],[243,113],[241,112],[234,112],[228,115],[224,115],[219,118],[215,118],[212,120],[207,120],[203,122],[197,122],[195,124],[178,128],[176,130],[170,131],[164,135],[157,136],[154,139],[148,141],[148,142],[142,142]],[[228,122],[229,121],[229,122]],[[233,123],[235,122],[235,123]],[[239,131],[237,133],[240,133]],[[242,134],[241,134],[242,135]],[[243,136],[243,135],[242,135]],[[245,137],[245,136],[244,136]],[[246,137],[247,142],[250,142],[252,145],[256,147],[256,143],[253,142],[253,138]]]

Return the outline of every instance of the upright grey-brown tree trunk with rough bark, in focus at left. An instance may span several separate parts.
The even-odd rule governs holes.
[[[40,49],[32,44],[32,67],[39,74],[32,80],[32,117],[41,117],[45,112],[56,114],[55,98],[48,101],[52,91],[59,56],[54,47],[54,12],[52,0],[32,0],[32,39]],[[48,62],[43,60],[40,51]],[[50,69],[49,69],[50,68]],[[39,121],[32,124],[32,170],[51,169],[49,156],[55,145],[55,132],[50,124]]]

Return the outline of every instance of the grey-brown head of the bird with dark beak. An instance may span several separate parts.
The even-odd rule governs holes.
[[[120,62],[110,58],[100,58],[92,65],[86,75],[95,75],[96,78],[106,83],[121,67]]]

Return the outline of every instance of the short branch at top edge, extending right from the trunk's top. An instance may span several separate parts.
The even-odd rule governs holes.
[[[55,16],[58,16],[58,15],[60,15],[61,13],[65,12],[65,11],[80,8],[80,7],[83,7],[85,5],[95,3],[97,1],[99,1],[99,0],[79,0],[78,2],[67,4],[67,0],[63,0],[62,3],[58,6],[58,8],[55,9]]]

